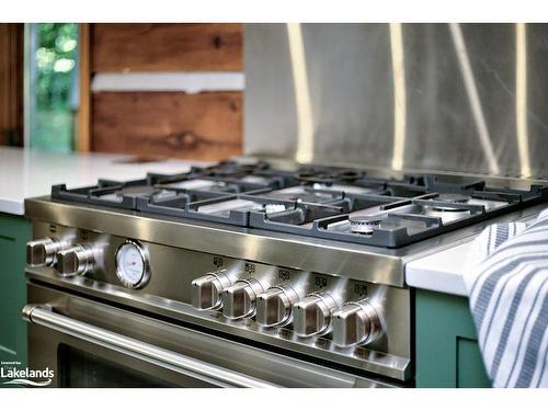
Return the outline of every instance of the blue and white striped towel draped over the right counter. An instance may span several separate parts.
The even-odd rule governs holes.
[[[548,387],[548,209],[473,240],[465,282],[494,387]]]

